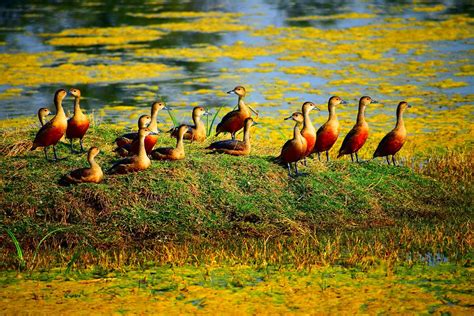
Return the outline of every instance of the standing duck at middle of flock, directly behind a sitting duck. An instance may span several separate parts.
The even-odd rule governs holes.
[[[246,118],[251,116],[250,110],[256,112],[251,106],[244,103],[244,97],[246,95],[245,88],[237,86],[233,90],[227,91],[228,94],[236,94],[239,98],[238,109],[227,113],[216,127],[216,136],[220,133],[231,133],[232,139],[235,139],[235,133],[244,127],[244,121]],[[249,110],[250,109],[250,110]]]

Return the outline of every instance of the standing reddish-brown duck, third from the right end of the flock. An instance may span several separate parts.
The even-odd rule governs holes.
[[[318,159],[321,161],[321,152],[326,152],[326,160],[329,161],[329,150],[336,143],[339,137],[339,121],[336,115],[336,106],[339,104],[346,104],[338,96],[332,96],[328,101],[329,118],[316,132],[316,144],[313,152],[318,154]]]

